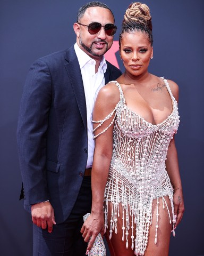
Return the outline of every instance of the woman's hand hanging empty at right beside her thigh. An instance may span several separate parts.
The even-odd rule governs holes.
[[[183,193],[182,189],[174,189],[174,214],[176,215],[175,228],[179,225],[184,212],[184,202],[183,202]]]

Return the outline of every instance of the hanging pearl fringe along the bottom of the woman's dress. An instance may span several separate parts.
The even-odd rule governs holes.
[[[117,218],[120,218],[119,207],[122,207],[122,241],[126,241],[126,248],[131,246],[135,250],[135,255],[143,255],[145,253],[148,243],[149,227],[152,219],[152,201],[157,200],[157,214],[156,214],[156,226],[155,226],[155,244],[157,243],[157,230],[158,217],[159,217],[159,198],[165,202],[165,207],[168,211],[169,223],[171,223],[171,214],[168,209],[164,196],[168,196],[171,202],[171,212],[174,216],[173,207],[173,189],[171,182],[168,178],[166,171],[163,178],[160,181],[162,184],[155,190],[154,195],[150,195],[150,198],[143,200],[142,195],[138,193],[136,189],[125,184],[124,180],[118,175],[116,170],[110,169],[110,177],[108,179],[105,190],[105,227],[108,229],[108,214],[111,214],[111,221],[109,226],[110,237],[114,228],[117,227]],[[128,192],[127,192],[128,191]],[[108,203],[112,203],[111,213],[108,213]],[[163,204],[164,205],[164,204]],[[134,229],[136,224],[136,229]],[[174,230],[174,227],[173,227]],[[131,243],[129,241],[129,234],[131,234]]]

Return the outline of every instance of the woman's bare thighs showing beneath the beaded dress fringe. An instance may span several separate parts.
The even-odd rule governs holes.
[[[169,213],[171,214],[171,203],[169,201],[168,196],[164,197],[166,203],[168,205]],[[109,239],[109,228],[110,228],[110,221],[111,221],[111,210],[112,210],[112,203],[108,203],[108,229],[106,231],[105,237],[108,244],[109,251],[111,256],[134,256],[134,249],[131,249],[132,239],[131,239],[131,228],[129,230],[128,236],[128,249],[126,249],[126,236],[124,241],[122,241],[123,230],[122,230],[122,206],[119,205],[119,213],[120,217],[117,218],[117,234],[115,231],[112,233],[112,238]],[[148,244],[145,252],[145,256],[167,256],[169,250],[169,241],[170,235],[172,230],[172,224],[169,221],[169,215],[167,211],[167,207],[165,204],[165,209],[163,209],[163,202],[162,198],[159,198],[159,217],[158,217],[158,230],[157,230],[157,243],[155,245],[155,231],[156,231],[156,219],[157,219],[157,199],[154,199],[152,202],[152,224],[149,228],[149,237],[148,237]],[[172,214],[171,214],[172,220]],[[132,224],[131,224],[132,225]],[[131,226],[130,225],[130,226]],[[135,232],[135,224],[133,224],[134,228],[133,231]],[[135,236],[135,234],[134,234]]]

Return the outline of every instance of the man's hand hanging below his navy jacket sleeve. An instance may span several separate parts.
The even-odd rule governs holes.
[[[55,225],[55,215],[54,209],[49,202],[43,202],[38,204],[33,204],[31,206],[31,215],[32,222],[46,229],[48,227],[48,232],[51,233],[53,231],[53,224]]]

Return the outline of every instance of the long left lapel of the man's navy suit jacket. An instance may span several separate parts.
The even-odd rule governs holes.
[[[77,59],[77,55],[75,54],[73,46],[69,50],[67,50],[65,59],[67,60],[67,62],[65,63],[65,68],[71,81],[71,85],[78,103],[83,124],[87,130],[87,107],[83,87],[83,80],[81,76],[81,70]]]

